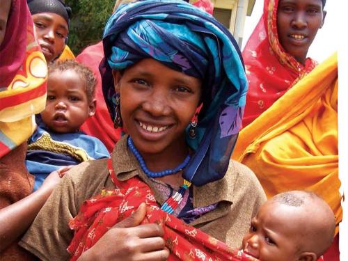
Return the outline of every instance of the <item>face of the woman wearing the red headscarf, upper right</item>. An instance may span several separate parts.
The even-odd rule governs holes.
[[[308,49],[322,27],[324,17],[321,0],[279,0],[279,42],[299,63],[305,63]]]

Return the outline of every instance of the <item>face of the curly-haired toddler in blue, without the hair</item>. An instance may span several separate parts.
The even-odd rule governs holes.
[[[49,74],[47,81],[47,102],[41,116],[45,125],[54,132],[75,132],[89,116],[95,106],[88,102],[86,83],[74,70]]]

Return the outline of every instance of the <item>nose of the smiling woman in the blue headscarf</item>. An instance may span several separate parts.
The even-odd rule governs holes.
[[[165,91],[153,91],[143,103],[143,110],[155,117],[168,116],[171,113],[168,95]]]

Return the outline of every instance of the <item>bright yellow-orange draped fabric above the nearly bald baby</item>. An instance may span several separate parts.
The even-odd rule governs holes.
[[[322,196],[336,225],[342,220],[337,102],[334,54],[242,129],[232,155],[251,168],[267,197],[294,189]]]

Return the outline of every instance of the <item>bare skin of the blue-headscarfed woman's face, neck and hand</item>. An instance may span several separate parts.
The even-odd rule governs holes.
[[[200,101],[200,79],[148,58],[122,74],[113,71],[113,81],[121,97],[123,125],[150,171],[175,168],[182,163],[189,153],[184,130]],[[175,173],[157,180],[178,188],[183,182],[181,175]],[[163,229],[155,223],[140,225],[145,214],[145,205],[141,205],[132,216],[106,232],[79,261],[166,260],[169,251],[162,238]]]

